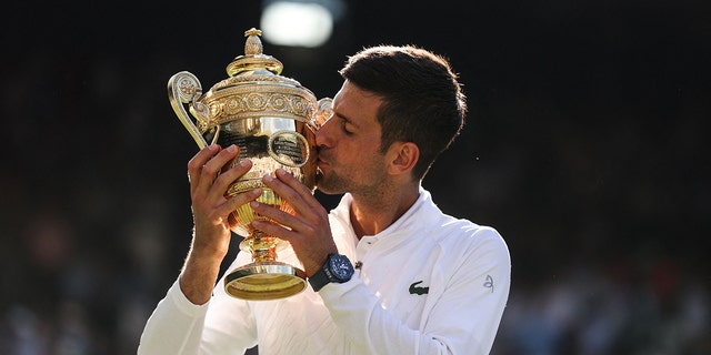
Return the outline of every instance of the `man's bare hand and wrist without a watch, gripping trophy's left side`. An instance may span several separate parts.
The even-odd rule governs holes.
[[[180,288],[194,304],[204,304],[212,295],[220,264],[230,245],[232,226],[229,214],[261,194],[261,189],[254,189],[230,199],[224,196],[230,184],[252,168],[249,160],[230,168],[238,155],[236,145],[220,149],[212,144],[198,152],[188,163],[194,232],[180,275]]]

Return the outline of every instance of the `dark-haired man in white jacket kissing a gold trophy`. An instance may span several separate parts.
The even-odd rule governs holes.
[[[281,170],[263,182],[294,215],[257,203],[259,189],[226,199],[251,163],[219,173],[238,149],[200,151],[188,163],[191,250],[148,321],[140,354],[241,354],[254,345],[260,354],[490,351],[509,294],[507,245],[491,227],[443,214],[421,186],[463,124],[457,75],[437,54],[388,45],[360,51],[340,73],[333,116],[316,132],[318,189],[344,193],[340,204],[328,213]],[[227,295],[222,280],[216,286],[227,216],[244,203],[283,225],[253,222],[291,244],[279,257],[303,266],[304,292],[244,301]],[[250,257],[240,253],[232,267]]]

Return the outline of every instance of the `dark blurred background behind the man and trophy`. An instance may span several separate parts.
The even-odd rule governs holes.
[[[279,31],[276,2],[3,4],[1,354],[136,353],[191,236],[197,145],[166,84],[226,79],[246,30]],[[493,354],[711,354],[705,1],[287,9],[270,16],[288,33],[322,38],[264,52],[319,98],[367,45],[424,47],[460,73],[468,125],[423,185],[509,244]]]

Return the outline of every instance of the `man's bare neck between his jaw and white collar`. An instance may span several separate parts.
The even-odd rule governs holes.
[[[375,235],[398,221],[418,200],[419,183],[382,189],[380,193],[353,196],[351,223],[358,240],[363,235]]]

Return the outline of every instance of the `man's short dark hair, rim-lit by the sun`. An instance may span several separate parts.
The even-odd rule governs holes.
[[[394,142],[418,145],[415,178],[424,178],[464,124],[464,94],[458,75],[441,55],[413,45],[378,45],[350,57],[339,72],[383,99],[378,112],[381,151]]]

